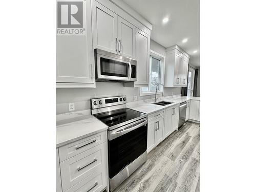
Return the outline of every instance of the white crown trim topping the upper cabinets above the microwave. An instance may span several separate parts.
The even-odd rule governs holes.
[[[139,14],[134,11],[132,8],[130,8],[125,3],[115,1],[115,0],[93,0],[104,7],[110,9],[114,13],[116,13],[118,16],[122,17],[123,19],[127,20],[127,22],[133,24],[135,27],[140,29],[141,31],[145,32],[146,34],[150,35],[152,30],[152,24],[147,22],[143,17],[138,16]],[[125,9],[125,10],[124,10]],[[135,16],[132,16],[130,13],[132,13]],[[142,19],[143,18],[143,19]]]

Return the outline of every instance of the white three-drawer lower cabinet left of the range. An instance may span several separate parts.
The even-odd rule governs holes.
[[[63,149],[71,149],[72,153],[74,153],[73,146],[79,145],[76,147],[77,151],[83,149],[74,153],[70,158],[65,156],[68,159],[59,163],[63,192],[102,191],[106,188],[108,183],[108,148],[105,138],[106,132],[104,131],[58,148],[59,152],[62,149],[62,156],[63,152],[67,151]]]

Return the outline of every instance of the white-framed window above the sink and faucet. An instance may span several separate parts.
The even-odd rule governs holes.
[[[140,95],[153,95],[156,91],[156,86],[158,83],[164,81],[164,56],[151,51],[150,55],[150,75],[148,79],[148,87],[143,87],[140,89]],[[163,87],[158,86],[157,91],[162,92]]]

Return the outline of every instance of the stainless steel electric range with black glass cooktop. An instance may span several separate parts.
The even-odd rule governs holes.
[[[126,108],[126,102],[126,96],[91,99],[92,115],[109,127],[111,191],[146,161],[147,114]]]

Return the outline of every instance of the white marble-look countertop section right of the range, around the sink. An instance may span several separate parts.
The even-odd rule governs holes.
[[[162,105],[153,104],[155,103],[155,99],[147,99],[147,100],[127,103],[126,107],[142,113],[152,114],[187,100],[200,100],[200,97],[188,97],[188,96],[158,97],[156,102],[167,101],[167,102],[172,102],[172,104],[167,104],[165,106],[162,106]]]

